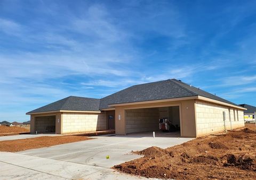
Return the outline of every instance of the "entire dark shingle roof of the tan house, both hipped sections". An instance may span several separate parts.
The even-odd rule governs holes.
[[[176,79],[151,82],[146,84],[133,85],[132,87],[118,91],[102,99],[84,98],[69,96],[49,105],[32,110],[29,113],[43,113],[55,110],[78,110],[78,111],[99,111],[107,109],[111,104],[122,104],[129,102],[141,102],[150,100],[162,100],[182,97],[203,96],[206,98],[226,102],[235,105],[226,99],[212,95],[209,92],[190,86],[187,83]]]

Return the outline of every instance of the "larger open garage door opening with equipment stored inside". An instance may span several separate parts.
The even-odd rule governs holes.
[[[156,133],[164,136],[180,136],[179,106],[125,110],[126,134]]]

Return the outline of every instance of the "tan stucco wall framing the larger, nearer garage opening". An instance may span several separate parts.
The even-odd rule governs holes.
[[[196,123],[195,123],[195,100],[184,101],[166,101],[157,103],[148,103],[141,105],[126,105],[116,107],[116,134],[126,134],[125,128],[125,110],[127,109],[140,109],[140,108],[153,108],[153,107],[167,107],[167,106],[179,106],[180,107],[180,119],[181,121],[181,136],[183,137],[195,137],[196,136]],[[120,119],[119,119],[120,117]]]

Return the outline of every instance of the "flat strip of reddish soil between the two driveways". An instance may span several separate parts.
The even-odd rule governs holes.
[[[38,138],[28,138],[11,141],[0,141],[0,151],[18,152],[28,149],[50,147],[52,145],[66,144],[70,142],[91,140],[87,136],[64,135],[64,136],[41,136]]]

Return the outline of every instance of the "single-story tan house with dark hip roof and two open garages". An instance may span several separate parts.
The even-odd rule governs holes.
[[[70,96],[32,110],[31,133],[115,130],[116,134],[159,130],[169,118],[181,137],[197,137],[244,126],[244,110],[180,80],[169,79],[118,91],[101,99]]]

